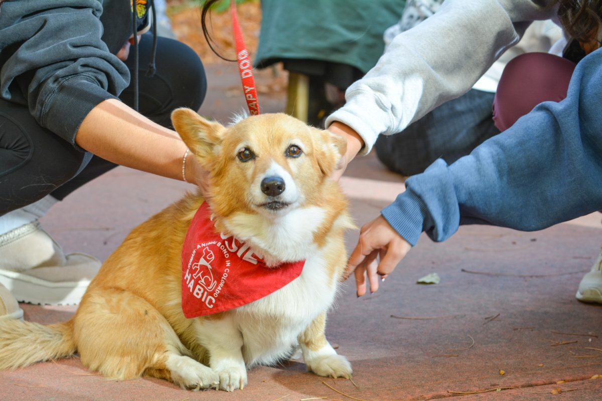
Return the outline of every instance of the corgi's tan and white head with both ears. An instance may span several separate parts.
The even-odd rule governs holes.
[[[172,121],[211,171],[209,196],[220,216],[242,211],[277,217],[316,204],[346,149],[343,138],[286,114],[256,115],[224,127],[178,109]]]

